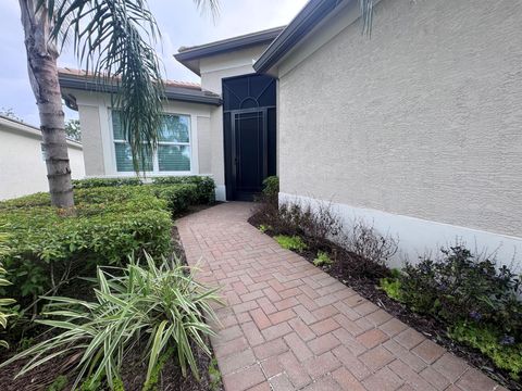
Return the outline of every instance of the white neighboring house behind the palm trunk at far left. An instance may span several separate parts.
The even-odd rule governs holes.
[[[67,140],[74,179],[85,176],[79,142]],[[0,200],[48,191],[47,167],[37,127],[0,116]]]

